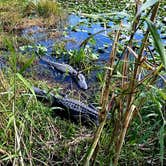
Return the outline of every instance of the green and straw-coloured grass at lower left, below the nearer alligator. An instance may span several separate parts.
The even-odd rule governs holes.
[[[22,76],[17,68],[20,55],[12,43],[6,40],[10,51],[8,69],[0,70],[0,164],[79,162],[88,148],[91,130],[54,117],[52,109],[36,100],[32,83],[49,89],[47,82]]]

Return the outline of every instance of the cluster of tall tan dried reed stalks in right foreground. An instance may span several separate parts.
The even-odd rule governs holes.
[[[117,72],[117,66],[119,63],[115,65],[115,56],[116,56],[116,50],[117,50],[117,42],[120,35],[120,32],[118,31],[114,40],[114,44],[112,46],[112,52],[110,54],[110,59],[108,62],[108,70],[105,74],[105,83],[101,92],[101,98],[100,98],[100,105],[101,105],[101,111],[99,112],[100,117],[100,125],[97,128],[94,136],[94,140],[92,142],[92,145],[87,152],[87,156],[85,159],[84,165],[90,165],[90,163],[94,164],[95,159],[97,156],[97,153],[99,151],[99,140],[102,135],[103,127],[106,122],[106,115],[107,112],[112,108],[112,118],[115,118],[115,123],[113,124],[113,132],[110,135],[110,143],[108,145],[108,154],[109,154],[109,164],[113,164],[114,166],[118,165],[118,161],[120,158],[120,152],[122,150],[122,146],[125,140],[125,136],[127,133],[127,130],[129,128],[129,125],[135,117],[139,110],[141,109],[141,106],[137,105],[137,99],[139,94],[141,94],[142,89],[139,88],[140,84],[143,84],[146,82],[149,78],[156,79],[156,74],[158,71],[161,71],[161,67],[154,68],[153,66],[148,67],[148,58],[145,60],[144,58],[144,51],[147,47],[147,39],[149,36],[149,28],[147,28],[144,37],[141,41],[141,45],[138,50],[133,50],[134,43],[133,43],[133,37],[136,33],[136,31],[141,27],[141,24],[145,22],[145,19],[141,17],[141,14],[143,11],[148,10],[146,17],[150,16],[150,20],[152,22],[155,21],[155,17],[157,15],[157,11],[159,8],[159,1],[146,1],[144,4],[142,1],[135,1],[136,5],[136,12],[135,17],[132,24],[132,33],[130,35],[129,41],[126,46],[124,46],[124,51],[122,53],[124,59],[120,60],[123,61],[123,66],[121,70],[121,78],[122,81],[112,86],[110,85],[110,80],[112,79],[113,72]],[[153,29],[154,30],[154,29]],[[153,33],[152,35],[155,34]],[[155,35],[154,35],[155,36]],[[157,36],[157,35],[156,35]],[[154,37],[155,38],[155,37]],[[156,37],[158,38],[158,36]],[[160,43],[161,44],[161,43]],[[157,41],[157,48],[159,49],[159,45]],[[162,49],[162,48],[161,48]],[[137,54],[138,52],[138,54]],[[160,50],[159,53],[162,53]],[[133,56],[134,60],[132,62],[129,60],[131,59],[130,56]],[[161,62],[163,64],[165,63],[163,61],[163,53],[161,54]],[[139,79],[139,75],[141,75],[142,67],[144,67],[145,70],[152,70],[151,73],[148,72],[147,75],[144,76],[143,79]],[[158,73],[159,74],[159,73]],[[111,91],[110,91],[111,86]],[[119,86],[121,87],[121,93],[117,94],[116,91],[119,89]],[[109,96],[110,99],[109,99]],[[108,107],[108,104],[110,107]],[[163,128],[161,128],[161,133],[163,131]],[[162,144],[162,141],[161,141]],[[162,151],[163,152],[163,151]],[[162,153],[163,154],[163,153]],[[90,162],[92,160],[92,162]]]

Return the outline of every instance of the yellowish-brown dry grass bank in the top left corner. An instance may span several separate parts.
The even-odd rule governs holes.
[[[60,5],[55,1],[40,0],[33,3],[26,0],[7,0],[0,2],[0,9],[0,26],[7,32],[34,25],[56,26],[60,20],[65,20]]]

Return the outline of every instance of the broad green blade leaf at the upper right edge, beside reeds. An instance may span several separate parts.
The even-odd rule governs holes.
[[[161,59],[163,65],[166,69],[166,55],[165,55],[165,50],[164,50],[164,46],[163,46],[163,43],[161,41],[161,38],[160,38],[160,36],[157,32],[157,29],[156,29],[155,25],[153,24],[153,22],[150,21],[149,19],[146,19],[146,22],[148,24],[151,35],[153,37],[156,51],[159,53],[160,59]]]

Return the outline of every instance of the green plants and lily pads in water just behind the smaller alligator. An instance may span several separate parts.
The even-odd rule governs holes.
[[[89,41],[90,39],[88,38],[86,40]],[[93,51],[92,47],[86,46],[85,44],[79,49],[68,50],[66,49],[67,42],[69,41],[56,42],[53,47],[52,55],[56,56],[56,58],[63,58],[71,66],[79,68],[81,72],[89,73],[96,68],[100,68],[96,67],[93,63],[98,60],[99,55]],[[76,44],[75,41],[70,42]]]

